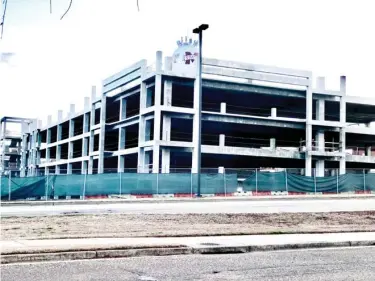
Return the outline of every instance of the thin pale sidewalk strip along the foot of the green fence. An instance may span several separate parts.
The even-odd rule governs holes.
[[[160,198],[101,198],[101,199],[65,199],[48,201],[2,201],[1,206],[43,206],[43,205],[85,205],[85,204],[109,204],[109,203],[174,203],[174,202],[221,202],[221,201],[269,201],[269,200],[327,200],[327,199],[364,199],[375,198],[375,194],[324,194],[324,195],[272,195],[272,196],[212,196],[212,197],[160,197]]]

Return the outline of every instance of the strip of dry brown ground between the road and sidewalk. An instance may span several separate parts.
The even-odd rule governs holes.
[[[1,219],[1,240],[375,231],[375,211],[283,214],[65,215]]]

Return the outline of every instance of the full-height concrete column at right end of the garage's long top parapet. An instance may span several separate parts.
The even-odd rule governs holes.
[[[305,152],[305,175],[311,177],[312,168],[312,87],[311,78],[306,89],[306,152]]]

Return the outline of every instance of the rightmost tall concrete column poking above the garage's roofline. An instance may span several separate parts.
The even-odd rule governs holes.
[[[340,77],[340,92],[342,97],[340,99],[340,123],[342,128],[340,129],[340,175],[346,173],[346,77]]]

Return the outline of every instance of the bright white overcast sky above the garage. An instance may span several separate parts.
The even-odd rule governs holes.
[[[83,108],[91,85],[155,52],[200,23],[203,55],[312,70],[349,95],[374,97],[374,4],[371,0],[8,0],[0,52],[0,116],[46,120],[70,103]]]

